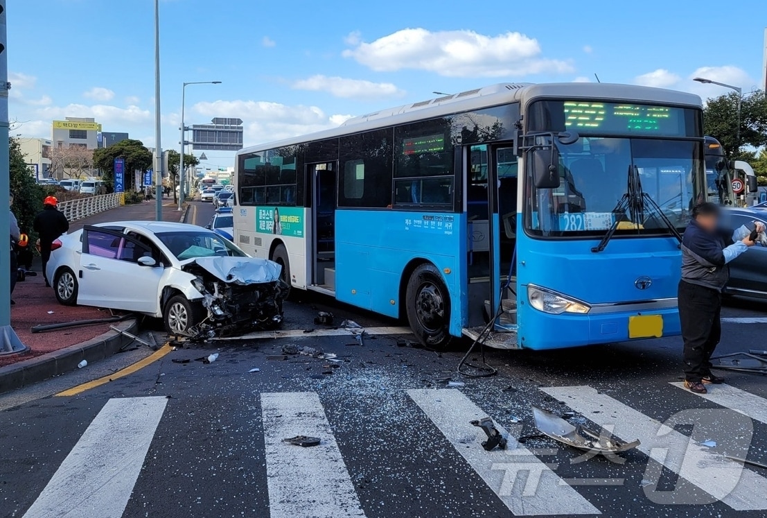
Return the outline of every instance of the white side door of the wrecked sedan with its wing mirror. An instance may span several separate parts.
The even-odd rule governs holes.
[[[77,272],[77,302],[102,308],[156,313],[163,266],[143,266],[153,256],[149,246],[117,229],[86,226]]]

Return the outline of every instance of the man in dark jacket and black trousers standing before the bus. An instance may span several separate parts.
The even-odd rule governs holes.
[[[742,226],[730,236],[719,229],[719,206],[700,203],[693,209],[693,220],[682,240],[682,280],[679,283],[679,318],[684,341],[684,386],[696,394],[706,394],[704,383],[722,383],[711,372],[711,355],[722,333],[719,314],[722,290],[729,280],[727,263],[754,245],[752,230],[765,227]]]

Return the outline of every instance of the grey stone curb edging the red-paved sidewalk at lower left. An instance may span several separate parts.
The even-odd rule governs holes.
[[[138,321],[136,318],[128,318],[123,322],[117,322],[116,327],[122,331],[135,333],[138,329]],[[96,338],[70,345],[59,351],[48,352],[37,358],[0,367],[0,394],[74,371],[77,369],[77,364],[83,360],[92,363],[109,358],[128,342],[130,338],[108,331]]]

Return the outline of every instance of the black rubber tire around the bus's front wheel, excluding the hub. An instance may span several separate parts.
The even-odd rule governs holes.
[[[426,283],[433,285],[442,299],[442,322],[430,326],[430,328],[426,328],[420,321],[416,306],[416,298]],[[410,328],[423,345],[430,348],[445,348],[450,343],[453,339],[453,336],[450,335],[450,294],[442,275],[439,275],[439,270],[432,264],[418,266],[413,275],[410,275],[407,282],[405,305]]]

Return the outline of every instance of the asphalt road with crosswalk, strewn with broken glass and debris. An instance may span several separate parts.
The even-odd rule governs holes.
[[[210,210],[198,207],[196,223]],[[380,329],[360,345],[314,325],[320,310]],[[489,350],[498,374],[466,378],[456,373],[466,341],[401,346],[401,322],[301,292],[285,315],[279,338],[179,348],[74,396],[0,397],[15,405],[0,411],[0,516],[767,513],[767,470],[724,457],[767,464],[765,378],[726,372],[707,398],[684,391],[680,338]],[[723,316],[718,352],[767,348],[767,306],[736,301]],[[285,345],[336,358],[283,357]],[[50,383],[63,390],[77,376]],[[539,436],[531,405],[641,444],[607,457],[575,450]],[[485,416],[509,449],[482,449],[469,421]],[[298,435],[321,442],[283,442]]]

